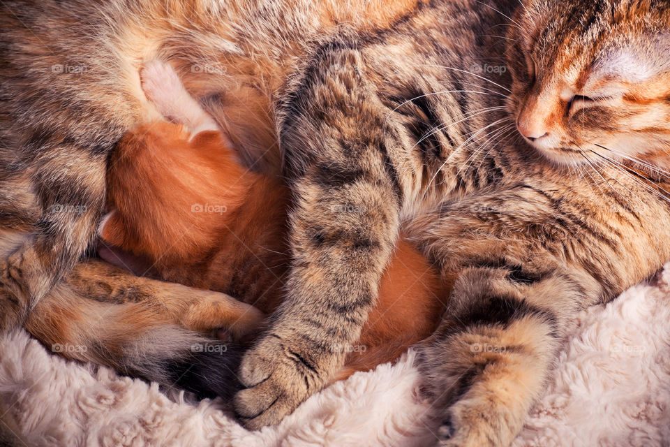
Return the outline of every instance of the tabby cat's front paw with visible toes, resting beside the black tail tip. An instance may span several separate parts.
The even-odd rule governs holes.
[[[240,422],[251,430],[279,423],[324,381],[311,346],[297,346],[295,337],[271,332],[248,351],[239,369],[246,389],[234,399]]]

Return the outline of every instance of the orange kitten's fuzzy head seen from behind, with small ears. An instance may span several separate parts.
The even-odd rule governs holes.
[[[221,133],[189,136],[154,122],[119,142],[107,175],[114,214],[103,240],[162,265],[197,259],[216,244],[224,214],[244,202],[254,175],[234,160]]]

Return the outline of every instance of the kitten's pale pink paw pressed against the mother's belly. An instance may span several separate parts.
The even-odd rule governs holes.
[[[188,92],[174,68],[166,62],[150,61],[140,70],[140,82],[147,99],[164,117],[175,118],[179,103]]]

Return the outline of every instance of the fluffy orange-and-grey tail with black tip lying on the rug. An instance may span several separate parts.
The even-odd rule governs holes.
[[[201,398],[227,400],[239,389],[241,346],[176,325],[156,302],[100,302],[61,284],[24,326],[53,353]]]

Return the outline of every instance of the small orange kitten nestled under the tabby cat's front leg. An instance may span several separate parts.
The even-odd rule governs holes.
[[[274,312],[290,262],[286,186],[235,160],[227,135],[188,95],[168,64],[146,64],[142,87],[173,123],[138,126],[112,152],[107,173],[112,212],[98,228],[105,243],[101,256],[137,274],[150,272],[165,281],[229,293],[266,314]],[[445,295],[433,266],[399,240],[360,339],[355,345],[332,346],[348,353],[345,368],[334,379],[394,360],[431,335]],[[234,300],[219,306],[229,304],[234,314],[239,309]],[[232,318],[221,326],[230,330]],[[198,321],[198,315],[191,319]],[[238,338],[258,331],[258,321],[246,314],[233,323]]]

